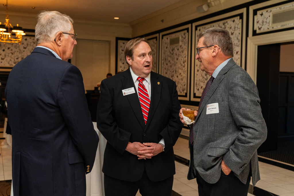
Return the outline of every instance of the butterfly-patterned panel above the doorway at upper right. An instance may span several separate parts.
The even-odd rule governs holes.
[[[285,22],[281,22],[280,24],[275,25],[275,21],[273,21],[273,14],[283,14],[283,12],[288,12],[293,9],[294,3],[292,2],[289,4],[283,4],[268,9],[258,10],[257,14],[254,16],[254,30],[256,30],[256,33],[262,33],[293,27],[293,16],[287,16],[287,13],[285,13],[285,16],[280,16],[280,18],[284,18]],[[293,15],[293,13],[291,15]]]

